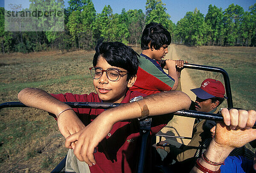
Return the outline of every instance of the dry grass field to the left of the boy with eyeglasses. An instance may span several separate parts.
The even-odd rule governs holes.
[[[93,92],[88,68],[94,52],[75,51],[0,55],[0,103],[18,101],[25,87],[52,93]],[[1,172],[49,172],[67,149],[55,120],[33,108],[0,111]]]

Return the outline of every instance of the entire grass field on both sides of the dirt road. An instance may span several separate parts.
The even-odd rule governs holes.
[[[256,109],[256,48],[176,45],[175,49],[189,63],[224,68],[230,75],[234,106]],[[93,92],[88,70],[93,54],[75,51],[0,55],[0,103],[18,101],[17,94],[25,87],[52,93]],[[193,71],[190,75],[198,86],[202,78],[221,78],[209,72]],[[0,172],[49,172],[66,152],[64,137],[46,112],[33,108],[0,111]]]

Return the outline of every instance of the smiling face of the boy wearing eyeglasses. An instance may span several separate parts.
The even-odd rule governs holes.
[[[106,70],[108,68],[116,68],[127,72],[127,70],[120,67],[111,66],[102,57],[98,58],[96,66],[102,68],[103,70]],[[131,87],[136,80],[136,77],[133,77],[127,81],[127,73],[125,72],[120,72],[117,81],[110,81],[107,78],[106,72],[103,72],[102,76],[99,79],[93,79],[94,88],[102,101],[121,103],[121,101],[125,98],[127,87]]]

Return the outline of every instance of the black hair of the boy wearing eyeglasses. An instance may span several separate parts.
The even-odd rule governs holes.
[[[127,81],[131,76],[137,74],[140,65],[138,57],[140,56],[130,47],[120,42],[109,42],[104,39],[99,40],[95,47],[93,56],[93,66],[96,66],[98,58],[104,58],[111,66],[120,67],[128,71]]]

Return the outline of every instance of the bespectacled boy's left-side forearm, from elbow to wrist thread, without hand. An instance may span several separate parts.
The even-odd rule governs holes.
[[[57,115],[64,109],[70,108],[67,104],[58,101],[47,92],[38,88],[25,88],[18,94],[18,99],[29,107],[45,110]]]

